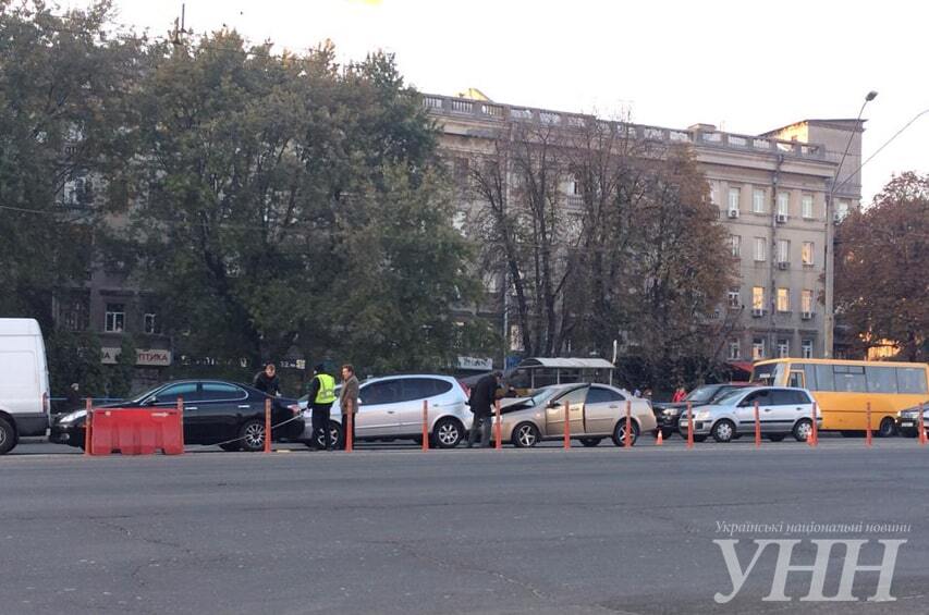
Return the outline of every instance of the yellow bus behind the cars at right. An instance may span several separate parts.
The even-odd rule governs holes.
[[[893,435],[896,413],[929,399],[929,365],[839,359],[771,359],[758,361],[751,381],[808,389],[822,411],[822,429],[851,435],[871,429]]]

